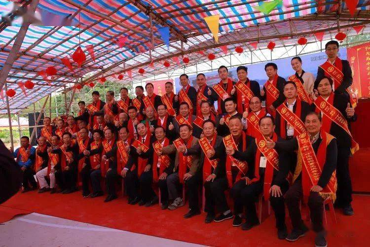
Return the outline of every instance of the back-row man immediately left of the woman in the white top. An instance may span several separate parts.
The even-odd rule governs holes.
[[[268,80],[263,85],[261,90],[262,100],[266,100],[266,111],[275,118],[276,107],[284,102],[284,84],[285,79],[279,77],[277,74],[277,65],[274,63],[267,63],[264,66]]]

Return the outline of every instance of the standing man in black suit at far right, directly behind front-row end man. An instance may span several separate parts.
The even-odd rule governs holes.
[[[341,113],[343,122],[347,122],[348,129],[351,128],[351,122],[357,120],[355,109],[352,107],[349,98],[344,93],[333,93],[333,81],[331,78],[323,77],[320,82],[315,83],[315,88],[319,95],[331,103]],[[315,101],[315,105],[317,101]],[[316,106],[316,111],[320,112]],[[328,116],[321,112],[323,118],[323,129],[336,138],[336,147],[338,150],[336,163],[336,177],[338,180],[338,189],[336,191],[335,206],[341,207],[345,215],[353,215],[352,202],[352,183],[349,174],[348,160],[352,153],[356,151],[353,147],[351,136],[338,124],[334,123]]]

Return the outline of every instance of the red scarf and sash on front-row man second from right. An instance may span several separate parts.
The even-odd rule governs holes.
[[[273,141],[277,141],[276,133],[272,136]],[[251,180],[252,183],[259,181],[259,161],[261,155],[263,155],[266,160],[266,169],[264,172],[263,181],[263,196],[265,200],[270,198],[269,190],[271,188],[272,177],[274,175],[274,169],[279,170],[279,154],[273,148],[266,147],[266,140],[263,136],[256,138],[256,145],[258,147],[255,157],[255,177]]]

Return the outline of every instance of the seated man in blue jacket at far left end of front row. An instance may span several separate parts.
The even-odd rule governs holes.
[[[21,167],[23,173],[22,193],[37,189],[37,183],[34,178],[36,172],[33,170],[35,153],[36,149],[31,146],[30,138],[28,138],[27,136],[22,136],[21,147],[17,148],[13,152],[13,156],[14,158],[16,158],[16,162],[19,167]],[[29,183],[31,184],[31,187]]]

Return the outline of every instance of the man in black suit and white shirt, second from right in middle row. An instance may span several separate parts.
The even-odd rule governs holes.
[[[293,114],[295,114],[296,117],[302,121],[303,125],[307,113],[311,112],[312,110],[311,106],[307,102],[301,101],[297,97],[297,86],[295,82],[288,81],[285,83],[284,96],[286,97],[286,100],[281,104],[282,107],[284,107],[284,109],[288,108],[291,112],[293,112]],[[283,139],[290,140],[301,133],[296,131],[294,125],[288,123],[281,116],[281,105],[279,105],[276,109],[275,132]]]

